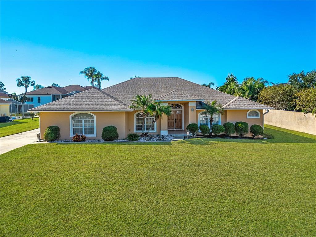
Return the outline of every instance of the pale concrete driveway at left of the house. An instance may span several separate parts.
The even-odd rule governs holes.
[[[40,129],[37,128],[27,132],[0,137],[0,154],[37,142],[37,134],[39,132]]]

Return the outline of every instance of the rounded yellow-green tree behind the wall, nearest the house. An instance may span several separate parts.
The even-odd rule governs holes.
[[[279,110],[293,110],[293,99],[296,89],[288,84],[273,85],[264,88],[258,102]]]

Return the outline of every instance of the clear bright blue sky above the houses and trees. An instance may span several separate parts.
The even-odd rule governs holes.
[[[178,76],[221,85],[228,72],[286,82],[316,68],[315,1],[1,1],[1,81],[88,85]],[[31,89],[29,89],[31,90]]]

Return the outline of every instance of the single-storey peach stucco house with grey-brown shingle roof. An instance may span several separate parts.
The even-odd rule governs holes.
[[[61,139],[76,133],[89,139],[101,139],[105,126],[117,127],[119,138],[142,131],[140,111],[129,108],[136,94],[152,94],[156,101],[172,108],[172,114],[158,119],[151,134],[185,134],[188,124],[210,126],[209,117],[201,114],[206,101],[222,104],[223,115],[214,116],[213,124],[244,121],[263,126],[264,109],[269,106],[207,88],[179,77],[133,78],[103,90],[92,88],[73,96],[42,105],[29,111],[40,112],[40,137],[48,126],[60,128]],[[153,117],[145,119],[149,128]]]

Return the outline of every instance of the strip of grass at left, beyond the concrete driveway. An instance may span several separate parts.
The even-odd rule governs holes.
[[[0,137],[30,131],[40,127],[39,118],[15,119],[13,122],[0,123]]]

